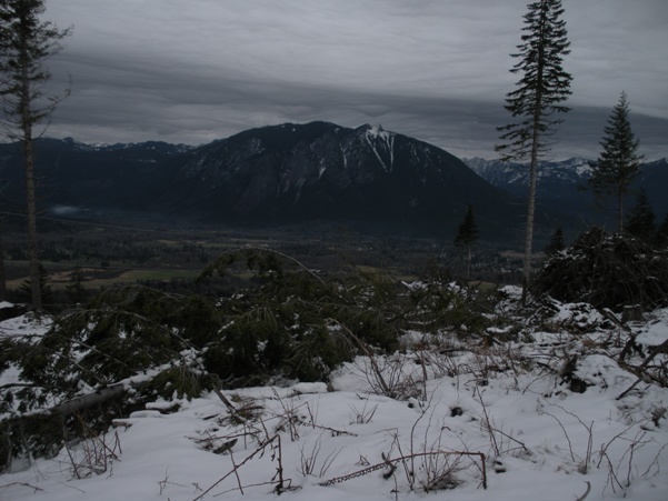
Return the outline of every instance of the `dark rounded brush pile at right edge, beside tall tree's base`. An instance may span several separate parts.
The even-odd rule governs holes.
[[[668,255],[641,240],[595,228],[547,261],[534,290],[614,311],[656,308],[668,303]]]

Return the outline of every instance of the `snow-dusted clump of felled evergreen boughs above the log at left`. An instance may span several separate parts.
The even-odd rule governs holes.
[[[139,285],[109,289],[56,320],[21,357],[22,377],[70,398],[82,384],[99,388],[180,360],[211,322],[202,301]]]

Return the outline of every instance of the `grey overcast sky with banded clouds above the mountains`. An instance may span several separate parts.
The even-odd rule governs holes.
[[[496,158],[528,0],[47,0],[73,26],[48,136],[201,144],[253,127],[379,123]],[[554,158],[596,158],[628,93],[648,159],[668,156],[668,1],[564,0],[574,76]]]

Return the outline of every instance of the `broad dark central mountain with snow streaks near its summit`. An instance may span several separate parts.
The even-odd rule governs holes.
[[[198,148],[168,196],[177,211],[222,221],[346,220],[445,233],[467,204],[489,231],[517,218],[516,201],[459,159],[379,126],[287,123]]]

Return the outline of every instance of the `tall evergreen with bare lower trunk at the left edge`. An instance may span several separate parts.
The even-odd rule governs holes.
[[[34,127],[48,120],[61,98],[44,96],[51,73],[46,60],[60,51],[70,30],[40,20],[43,0],[0,0],[0,97],[9,137],[22,142],[32,307],[42,309],[34,194]],[[67,92],[66,92],[67,96]]]

